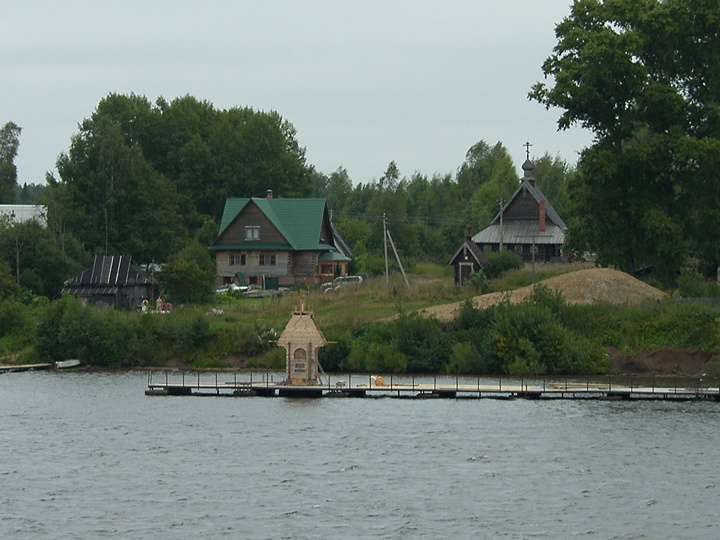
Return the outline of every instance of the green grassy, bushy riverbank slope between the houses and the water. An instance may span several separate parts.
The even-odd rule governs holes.
[[[582,268],[536,267],[535,279]],[[538,287],[527,301],[475,309],[476,290],[457,289],[440,268],[424,268],[408,287],[400,276],[333,292],[278,297],[218,296],[212,304],[169,314],[123,313],[81,306],[72,298],[0,305],[0,357],[18,363],[80,358],[103,367],[282,368],[272,342],[304,305],[333,343],[322,349],[327,371],[472,374],[598,374],[613,370],[609,350],[632,357],[657,349],[720,351],[720,310],[671,300],[646,306],[569,305]],[[528,284],[532,269],[493,280],[493,290]],[[440,323],[415,313],[464,302]],[[712,368],[714,364],[709,367]]]

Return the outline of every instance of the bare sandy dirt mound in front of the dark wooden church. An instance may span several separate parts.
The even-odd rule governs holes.
[[[662,300],[665,293],[617,270],[589,268],[562,274],[541,282],[546,287],[562,292],[569,304],[643,304]],[[476,296],[473,303],[477,308],[486,308],[508,298],[512,303],[525,300],[533,285],[508,292],[497,292]],[[435,317],[440,321],[451,321],[457,316],[460,303],[432,306],[420,311],[422,315]]]

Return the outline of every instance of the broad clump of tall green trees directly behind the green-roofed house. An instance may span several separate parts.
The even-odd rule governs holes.
[[[165,261],[187,238],[205,238],[228,197],[312,196],[315,180],[279,114],[219,111],[192,96],[152,105],[108,95],[58,171],[68,229],[94,253],[142,262]]]

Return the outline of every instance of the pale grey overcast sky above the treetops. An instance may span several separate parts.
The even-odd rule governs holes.
[[[308,163],[355,182],[454,173],[480,140],[518,173],[592,141],[527,99],[571,0],[2,0],[0,125],[22,127],[18,182],[40,183],[109,93],[275,110]]]

